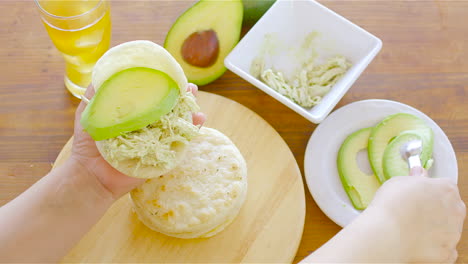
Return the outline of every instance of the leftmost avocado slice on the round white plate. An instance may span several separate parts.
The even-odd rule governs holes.
[[[372,128],[364,128],[349,135],[338,152],[338,173],[353,206],[366,209],[380,186],[374,175],[364,173],[356,161],[359,151],[366,149]]]

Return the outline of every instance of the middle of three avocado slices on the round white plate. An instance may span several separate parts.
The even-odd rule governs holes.
[[[424,166],[432,156],[433,133],[422,119],[406,113],[388,116],[374,127],[369,137],[369,162],[380,183],[389,179],[383,169],[385,149],[405,131],[412,131],[422,139],[421,163]]]

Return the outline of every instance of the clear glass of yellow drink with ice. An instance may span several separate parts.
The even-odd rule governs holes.
[[[107,0],[35,0],[42,22],[66,61],[65,86],[80,98],[91,83],[96,61],[109,49]]]

